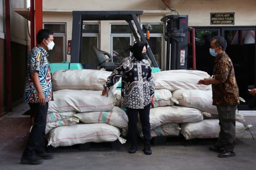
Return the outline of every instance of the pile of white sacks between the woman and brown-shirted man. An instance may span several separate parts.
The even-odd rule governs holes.
[[[216,106],[212,106],[212,86],[197,84],[201,79],[210,78],[207,72],[170,70],[154,73],[153,76],[156,91],[168,90],[177,106],[173,103],[156,104],[150,109],[151,137],[178,136],[180,132],[186,140],[218,137],[220,126]],[[238,111],[236,119],[244,121]],[[238,121],[237,137],[242,138],[245,127]],[[137,127],[139,135],[143,136],[141,123]]]

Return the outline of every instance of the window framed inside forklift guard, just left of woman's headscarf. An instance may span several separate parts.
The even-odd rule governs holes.
[[[124,58],[131,56],[125,51],[132,45],[132,30],[127,24],[111,24],[111,55],[113,62],[120,63]]]

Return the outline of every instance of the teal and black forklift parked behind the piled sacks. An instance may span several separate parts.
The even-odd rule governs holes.
[[[83,21],[126,21],[132,30],[132,34],[135,41],[147,43],[147,37],[141,29],[140,23],[137,17],[141,15],[143,11],[73,11],[73,25],[72,25],[72,40],[68,41],[68,53],[71,55],[71,63],[53,63],[51,64],[52,72],[59,69],[84,69],[81,64],[81,51],[82,51],[82,30]],[[174,69],[187,69],[188,60],[188,45],[190,44],[190,30],[188,27],[187,15],[168,15],[161,19],[165,23],[165,40],[167,41],[166,51],[166,70]],[[136,26],[133,26],[133,23]],[[148,35],[149,25],[146,25],[144,30]],[[194,31],[194,29],[193,29]],[[194,32],[192,31],[192,39],[194,39]],[[139,36],[140,37],[139,37]],[[195,70],[195,51],[194,40],[193,45],[193,69]],[[97,65],[101,68],[107,68],[107,71],[113,71],[118,65],[112,62],[112,56],[106,51],[100,51],[96,47],[93,47]],[[125,51],[128,51],[126,49]],[[152,72],[160,72],[159,66],[154,58],[154,55],[147,47],[147,55],[152,67]],[[106,58],[105,58],[106,56]],[[103,57],[104,59],[99,59]],[[171,67],[170,67],[171,66]]]

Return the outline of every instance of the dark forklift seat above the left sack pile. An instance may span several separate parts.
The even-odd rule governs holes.
[[[115,64],[111,62],[113,57],[106,51],[101,51],[93,46],[94,53],[96,55],[96,63],[97,66],[101,66],[101,68],[106,68],[106,71],[113,71],[118,67],[119,64]],[[108,58],[106,57],[108,56]]]

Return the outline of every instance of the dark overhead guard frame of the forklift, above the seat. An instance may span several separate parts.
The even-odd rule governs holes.
[[[83,21],[124,20],[129,24],[136,42],[148,44],[140,23],[137,20],[137,16],[142,13],[143,11],[73,11],[71,63],[80,63],[81,61]],[[137,28],[137,32],[132,21]],[[137,34],[139,34],[141,38],[139,38]],[[152,66],[158,68],[158,64],[149,46],[147,47],[147,55],[151,60]]]

